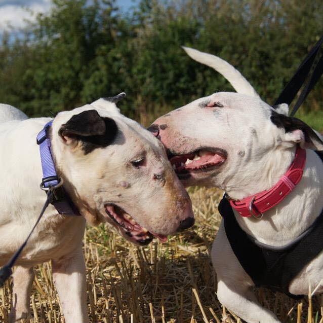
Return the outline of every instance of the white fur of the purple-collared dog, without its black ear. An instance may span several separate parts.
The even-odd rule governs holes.
[[[59,135],[61,126],[73,115],[87,110],[112,118],[118,127],[110,145],[89,154],[82,150],[82,141]],[[36,135],[50,119],[27,119],[6,104],[0,105],[0,116],[0,266],[3,266],[27,237],[46,200],[46,194],[39,189],[43,174]],[[192,216],[191,204],[163,145],[139,124],[121,115],[114,103],[99,99],[59,113],[51,128],[51,147],[58,175],[64,179],[64,188],[82,216],[60,216],[52,205],[47,208],[16,263],[10,319],[14,322],[28,317],[32,266],[52,260],[65,322],[87,323],[82,254],[85,219],[92,224],[107,222],[130,239],[105,212],[105,203],[114,203],[149,231],[171,234],[181,220]],[[138,157],[144,157],[145,164],[134,167],[131,161]]]

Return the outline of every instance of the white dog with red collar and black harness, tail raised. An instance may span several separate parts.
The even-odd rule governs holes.
[[[236,204],[234,217],[245,233],[262,244],[288,245],[311,226],[323,209],[323,163],[313,151],[323,150],[322,141],[306,124],[287,117],[286,104],[271,107],[262,101],[227,62],[185,50],[196,61],[219,71],[238,93],[219,92],[197,99],[158,118],[150,131],[164,143],[185,186],[223,189],[233,200],[231,205]],[[306,149],[306,161],[301,178],[293,183],[286,172],[298,146]],[[288,194],[273,207],[266,209],[263,205],[261,214],[253,197],[279,181],[290,188]],[[266,203],[269,201],[275,203],[272,199]],[[257,301],[254,282],[233,253],[223,221],[213,244],[212,261],[217,272],[217,296],[224,306],[248,323],[280,322]],[[323,252],[302,268],[289,285],[289,292],[307,295],[310,286],[321,293],[322,278]]]

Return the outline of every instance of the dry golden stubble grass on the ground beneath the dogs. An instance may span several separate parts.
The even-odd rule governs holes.
[[[89,227],[84,239],[88,310],[91,322],[227,322],[242,323],[216,297],[216,275],[209,249],[220,223],[222,192],[193,188],[196,224],[192,230],[138,248],[109,231]],[[223,259],[225,261],[225,259]],[[51,265],[35,268],[29,322],[64,322],[52,281]],[[258,290],[264,306],[282,322],[323,322],[323,299],[300,302]],[[0,289],[0,322],[8,322],[11,283]],[[75,322],[77,323],[77,322]]]

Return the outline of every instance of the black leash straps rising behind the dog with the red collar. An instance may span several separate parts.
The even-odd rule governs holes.
[[[296,97],[297,92],[300,90],[302,85],[305,83],[310,71],[312,70],[311,76],[308,79],[305,87],[303,88],[293,110],[291,117],[295,115],[298,108],[306,99],[308,93],[313,89],[321,75],[323,74],[323,54],[320,53],[320,47],[323,43],[323,36],[318,40],[315,46],[311,49],[301,65],[297,69],[295,75],[286,85],[285,89],[282,90],[274,105],[280,103],[291,104],[293,99]]]

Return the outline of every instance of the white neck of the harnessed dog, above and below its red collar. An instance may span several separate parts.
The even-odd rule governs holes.
[[[280,156],[279,156],[280,155]],[[233,198],[245,198],[266,190],[287,171],[293,155],[277,151],[265,163],[261,172],[253,172],[251,183],[245,183],[243,190],[227,191]],[[323,163],[315,152],[306,151],[306,163],[301,181],[295,189],[277,206],[264,213],[261,220],[242,218],[234,214],[240,227],[260,242],[281,246],[291,242],[304,232],[323,208]],[[258,177],[256,176],[258,174]],[[254,189],[251,188],[252,183]]]

